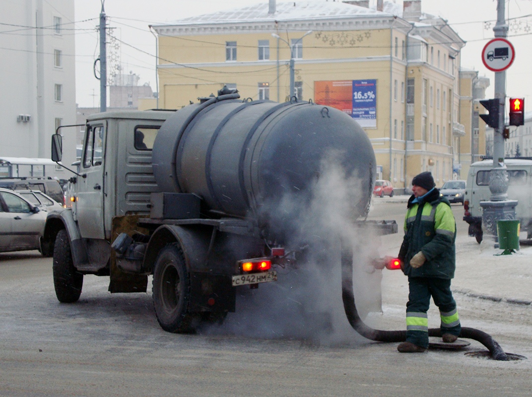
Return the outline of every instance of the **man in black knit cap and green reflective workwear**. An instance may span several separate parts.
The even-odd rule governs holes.
[[[451,204],[435,187],[430,172],[412,179],[412,192],[404,221],[404,238],[398,258],[408,276],[406,341],[397,346],[402,353],[428,349],[427,311],[430,296],[439,308],[443,342],[452,343],[461,326],[451,293],[455,270],[456,222]]]

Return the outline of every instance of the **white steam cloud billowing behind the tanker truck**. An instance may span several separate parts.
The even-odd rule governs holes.
[[[324,344],[352,342],[358,334],[348,324],[342,303],[340,239],[353,248],[359,312],[380,310],[380,273],[370,273],[374,269],[368,264],[369,257],[378,256],[378,239],[353,223],[367,209],[369,183],[345,175],[339,166],[341,157],[331,152],[321,162],[310,200],[290,193],[272,209],[285,221],[292,214],[294,233],[286,245],[307,246],[305,260],[277,268],[277,282],[261,284],[256,290],[241,288],[236,313],[229,313],[225,324],[208,332],[302,338]],[[271,218],[275,222],[275,215]]]

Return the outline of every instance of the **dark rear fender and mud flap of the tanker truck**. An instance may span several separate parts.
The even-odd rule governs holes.
[[[157,255],[167,244],[178,243],[185,257],[188,271],[207,271],[206,258],[209,252],[212,227],[162,225],[149,239],[144,255],[143,269],[153,272]]]

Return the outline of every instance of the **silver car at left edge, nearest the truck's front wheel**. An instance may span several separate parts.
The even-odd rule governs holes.
[[[20,194],[0,188],[0,252],[41,251],[46,214]]]

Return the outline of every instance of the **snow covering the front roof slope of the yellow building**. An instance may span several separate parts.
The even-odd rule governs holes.
[[[390,10],[392,10],[391,8]],[[327,0],[295,0],[277,3],[276,12],[269,14],[269,4],[264,0],[261,4],[240,7],[211,14],[189,16],[181,20],[165,23],[165,25],[205,24],[205,23],[237,23],[259,21],[290,21],[317,18],[335,18],[349,16],[393,16],[388,12],[381,12],[358,5],[345,4],[339,1]],[[160,25],[162,26],[162,25]]]

